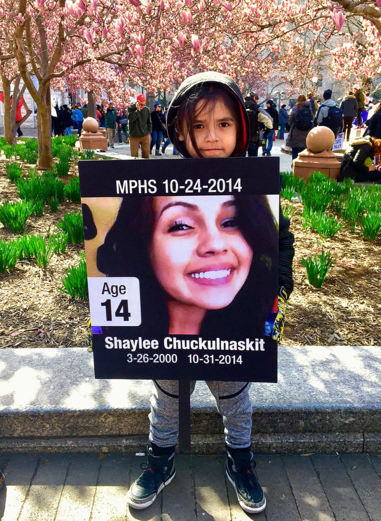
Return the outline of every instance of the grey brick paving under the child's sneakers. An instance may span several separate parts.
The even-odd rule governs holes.
[[[144,458],[115,454],[0,457],[3,521],[379,521],[381,458],[366,454],[257,455],[267,507],[245,514],[223,456],[177,456],[177,475],[147,510],[126,494]]]

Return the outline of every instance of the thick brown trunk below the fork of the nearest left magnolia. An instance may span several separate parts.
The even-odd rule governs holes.
[[[52,170],[52,113],[50,88],[40,85],[37,105],[37,135],[39,142],[38,170]]]

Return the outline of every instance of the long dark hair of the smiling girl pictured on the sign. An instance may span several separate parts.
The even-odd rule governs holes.
[[[207,311],[200,331],[205,338],[262,336],[267,312],[277,295],[278,230],[266,196],[236,195],[235,202],[238,227],[253,250],[253,261],[233,302],[223,309]],[[168,334],[166,293],[150,262],[152,205],[152,196],[125,198],[96,257],[97,268],[105,275],[139,279],[140,330],[148,338]]]

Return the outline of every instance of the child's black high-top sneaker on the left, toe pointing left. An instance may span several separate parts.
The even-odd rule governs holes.
[[[134,481],[127,494],[127,503],[133,508],[147,508],[157,498],[157,494],[175,477],[175,453],[170,456],[154,456],[152,449],[146,452],[147,463],[140,468],[144,472]]]

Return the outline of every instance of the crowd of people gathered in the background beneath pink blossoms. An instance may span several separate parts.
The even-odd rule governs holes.
[[[342,167],[340,178],[350,176],[355,180],[378,180],[380,178],[377,166],[378,146],[374,145],[373,140],[381,139],[381,110],[379,110],[381,103],[373,104],[368,94],[359,84],[354,84],[352,90],[338,100],[339,105],[333,99],[330,89],[324,91],[322,99],[309,92],[307,95],[300,94],[294,105],[280,105],[278,111],[272,99],[268,99],[265,107],[262,107],[259,104],[259,95],[250,92],[244,97],[245,109],[250,121],[248,156],[256,157],[261,147],[262,156],[271,156],[273,142],[276,139],[283,140],[286,135],[286,146],[291,148],[292,160],[296,159],[306,147],[306,137],[310,130],[316,126],[324,126],[330,128],[336,137],[343,132],[345,141],[349,142],[349,150],[343,162],[345,167]],[[3,93],[0,93],[0,101],[4,103],[4,97],[1,96]],[[23,98],[17,107],[16,123],[22,118],[21,106],[28,108]],[[66,104],[58,107],[52,98],[51,112],[52,135],[71,135],[71,128],[76,129],[80,135],[83,120],[88,117],[89,107],[86,100],[75,103],[72,108]],[[151,155],[162,156],[170,143],[165,107],[161,102],[156,102],[153,110],[150,111],[146,106],[144,94],[139,94],[127,110],[119,113],[111,101],[104,100],[101,105],[96,105],[95,117],[100,127],[106,129],[107,146],[114,148],[116,135],[118,144],[122,144],[124,136],[125,143],[130,143],[132,157],[139,156],[139,148],[142,158],[148,159]],[[361,138],[350,141],[353,127],[357,129],[366,127],[366,130]],[[16,125],[16,129],[18,137],[21,137],[23,134],[20,126]],[[376,165],[373,165],[372,157],[372,165],[364,168],[361,163],[359,169],[353,164],[350,154],[355,156],[353,147],[368,145],[371,147],[370,154],[377,152]],[[173,154],[179,155],[176,147],[173,149]],[[367,155],[367,161],[370,157],[371,155]]]

